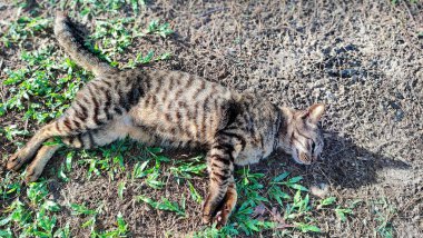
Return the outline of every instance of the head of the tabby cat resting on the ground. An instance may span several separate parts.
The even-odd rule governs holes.
[[[311,165],[316,161],[323,150],[323,136],[318,128],[318,121],[325,111],[325,106],[316,103],[307,110],[294,110],[283,108],[286,121],[286,133],[282,147],[285,152],[302,165]]]

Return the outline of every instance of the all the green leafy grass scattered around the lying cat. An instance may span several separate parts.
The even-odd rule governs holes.
[[[65,1],[61,1],[61,8],[65,8],[63,3]],[[22,4],[24,7],[24,3]],[[95,21],[96,28],[92,29],[87,46],[91,46],[94,52],[114,67],[135,68],[166,60],[171,56],[166,51],[155,53],[149,50],[138,53],[128,62],[117,62],[119,56],[130,48],[137,38],[166,38],[173,33],[169,24],[159,20],[154,20],[145,27],[136,24],[135,17],[146,8],[145,1],[78,0],[69,1],[66,7],[72,9],[70,16],[77,19],[100,14],[110,17]],[[129,9],[131,16],[119,17],[121,9]],[[30,125],[43,125],[59,117],[69,107],[76,92],[92,79],[92,75],[77,67],[76,62],[62,54],[52,41],[47,44],[33,42],[35,49],[26,46],[26,42],[32,41],[35,37],[49,38],[52,32],[52,19],[37,17],[33,12],[37,12],[37,9],[26,16],[22,13],[17,21],[8,23],[8,30],[0,36],[3,46],[18,49],[21,60],[21,66],[3,69],[7,79],[2,83],[9,96],[4,101],[0,101],[0,117],[9,117],[13,112]],[[22,123],[1,128],[0,133],[16,146],[22,145],[22,137],[30,136]],[[129,140],[116,141],[96,150],[65,149],[58,153],[63,161],[55,172],[61,182],[71,181],[76,167],[85,168],[87,180],[98,177],[118,180],[118,199],[125,199],[126,189],[135,184],[160,191],[170,176],[170,182],[186,187],[189,192],[174,196],[178,197],[177,200],[167,197],[157,199],[144,194],[136,195],[135,199],[139,205],[146,204],[151,209],[175,214],[181,219],[193,219],[188,218],[186,201],[191,199],[201,204],[204,200],[194,182],[196,178],[207,179],[204,157],[173,160],[161,152],[160,148],[146,148]],[[2,159],[6,160],[7,157],[8,155],[4,155]],[[131,170],[126,166],[129,161],[135,165]],[[196,231],[194,236],[255,236],[263,231],[276,236],[294,232],[319,234],[325,230],[316,222],[316,216],[333,212],[340,220],[345,221],[353,215],[353,207],[338,202],[335,197],[312,198],[308,189],[302,185],[303,178],[291,176],[288,171],[270,178],[245,167],[236,171],[236,177],[239,200],[228,225],[222,230],[208,227]],[[59,206],[51,199],[46,179],[24,186],[22,178],[23,175],[8,172],[0,181],[0,237],[13,237],[12,230],[18,230],[22,237],[70,237],[70,225],[59,227],[57,222],[58,212],[63,209],[70,210],[70,216],[81,217],[83,221],[79,226],[89,229],[91,237],[125,237],[130,232],[125,221],[130,217],[124,218],[119,214],[116,217],[115,229],[98,230],[97,219],[102,212],[101,204],[98,204],[96,209],[85,204]],[[390,232],[387,222],[382,218],[378,232]]]

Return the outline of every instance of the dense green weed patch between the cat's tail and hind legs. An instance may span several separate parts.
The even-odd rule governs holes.
[[[45,123],[60,116],[69,107],[78,89],[88,80],[88,75],[75,71],[75,63],[69,59],[57,65],[51,57],[55,54],[52,50],[53,47],[47,46],[32,52],[23,51],[21,59],[27,62],[27,67],[16,71],[4,70],[8,79],[3,85],[9,86],[12,95],[1,105],[4,112],[10,109],[24,111],[24,120]],[[57,79],[58,69],[69,75]]]

